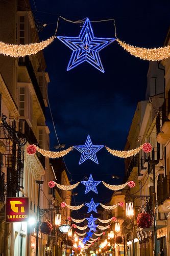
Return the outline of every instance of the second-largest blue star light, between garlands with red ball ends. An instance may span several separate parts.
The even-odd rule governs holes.
[[[80,146],[74,146],[74,148],[76,148],[76,150],[78,150],[79,152],[82,153],[79,164],[83,163],[84,161],[86,161],[87,159],[90,159],[92,161],[94,161],[95,163],[98,163],[98,159],[96,157],[96,153],[101,150],[101,148],[104,147],[104,145],[93,145],[90,139],[90,136],[87,136],[86,142],[84,145],[80,145]]]

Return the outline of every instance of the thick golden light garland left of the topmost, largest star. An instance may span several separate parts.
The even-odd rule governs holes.
[[[45,41],[35,42],[29,45],[10,45],[0,41],[0,54],[11,57],[24,57],[35,54],[50,45],[54,38],[55,36],[52,36]]]

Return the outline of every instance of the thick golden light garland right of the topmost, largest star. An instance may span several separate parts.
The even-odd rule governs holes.
[[[170,46],[147,49],[128,45],[126,42],[120,41],[118,38],[116,41],[124,48],[124,50],[135,57],[139,57],[140,59],[157,61],[170,57]]]

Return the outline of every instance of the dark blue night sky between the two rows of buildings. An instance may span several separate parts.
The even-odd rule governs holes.
[[[165,1],[113,1],[113,0],[34,0],[36,22],[47,24],[39,33],[40,40],[54,35],[58,16],[70,20],[115,18],[117,37],[139,47],[162,47],[169,28],[170,2]],[[94,36],[114,37],[113,21],[92,23]],[[78,36],[81,25],[60,19],[57,35]],[[124,150],[128,131],[137,106],[145,99],[149,61],[131,56],[116,41],[100,52],[105,73],[84,62],[66,71],[72,51],[60,40],[44,49],[51,82],[48,97],[60,144],[83,145],[89,134],[93,144],[107,145]],[[50,149],[57,145],[52,118],[46,110],[46,123],[50,128]],[[124,159],[109,154],[105,148],[97,154],[99,165],[88,160],[79,165],[81,154],[74,150],[64,157],[72,183],[92,174],[94,180],[121,184],[124,178]],[[112,175],[120,176],[113,179]],[[108,202],[112,194],[102,184],[98,195],[84,195],[85,186],[79,185],[76,203]],[[85,209],[86,210],[86,209]]]

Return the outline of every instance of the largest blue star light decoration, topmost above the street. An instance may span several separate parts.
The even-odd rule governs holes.
[[[67,71],[87,61],[102,73],[105,72],[99,52],[115,41],[115,38],[94,37],[89,18],[86,18],[79,36],[57,36],[57,38],[73,51]]]

